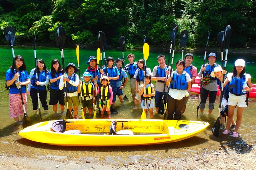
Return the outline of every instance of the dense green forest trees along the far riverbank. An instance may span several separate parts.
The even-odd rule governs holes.
[[[17,45],[31,44],[35,30],[44,46],[55,45],[56,28],[63,26],[69,45],[97,44],[101,30],[112,47],[122,35],[126,48],[142,47],[146,35],[151,47],[168,48],[173,22],[178,35],[188,30],[188,48],[203,48],[208,31],[209,46],[217,47],[217,34],[227,25],[230,47],[256,45],[256,0],[0,0],[2,45],[7,26],[15,28]]]

